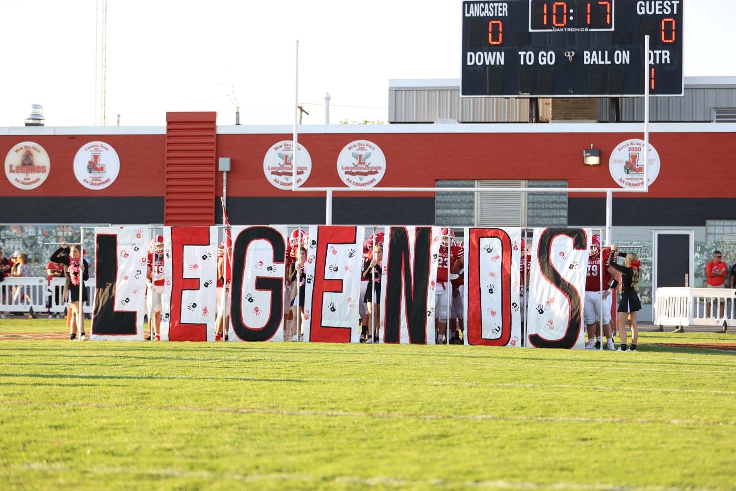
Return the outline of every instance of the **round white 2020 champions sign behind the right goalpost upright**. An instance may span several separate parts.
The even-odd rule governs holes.
[[[654,146],[649,144],[648,181],[654,183],[659,175],[659,154]],[[631,139],[622,141],[611,152],[608,160],[608,169],[611,177],[622,188],[644,187],[644,141]]]

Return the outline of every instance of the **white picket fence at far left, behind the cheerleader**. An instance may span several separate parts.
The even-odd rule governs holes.
[[[33,309],[35,314],[63,314],[66,311],[62,296],[64,281],[64,278],[52,278],[50,283],[46,278],[5,278],[0,283],[0,312],[28,313]],[[86,313],[92,310],[94,287],[94,278],[85,281],[89,297],[84,307]]]

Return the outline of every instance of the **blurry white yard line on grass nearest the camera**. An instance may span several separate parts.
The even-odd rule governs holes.
[[[665,486],[646,486],[646,487],[629,487],[615,484],[571,484],[571,483],[553,483],[538,484],[534,482],[511,482],[511,481],[447,481],[445,479],[401,479],[401,478],[359,478],[350,476],[334,476],[332,478],[319,476],[304,476],[299,474],[240,474],[240,473],[216,473],[208,470],[174,470],[174,469],[142,469],[136,467],[130,469],[127,467],[93,467],[87,466],[84,470],[71,468],[63,464],[44,464],[43,462],[26,462],[21,464],[22,468],[28,470],[46,470],[51,472],[74,472],[74,473],[96,473],[96,474],[126,474],[130,476],[148,475],[162,477],[183,477],[183,478],[206,478],[206,479],[222,479],[230,478],[237,481],[256,482],[256,481],[319,481],[350,483],[350,484],[366,484],[368,486],[389,485],[389,486],[422,486],[422,487],[462,487],[462,488],[501,488],[501,489],[553,489],[553,490],[590,490],[590,491],[682,491],[689,490],[690,487],[665,487]]]

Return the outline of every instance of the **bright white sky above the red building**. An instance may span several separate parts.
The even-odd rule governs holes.
[[[684,75],[736,75],[735,0],[684,0]],[[95,121],[98,0],[0,1],[0,127],[32,104],[47,126]],[[300,40],[303,124],[388,120],[389,79],[460,73],[460,0],[108,0],[107,124],[163,125],[166,111],[292,124]],[[234,97],[233,97],[234,94]]]

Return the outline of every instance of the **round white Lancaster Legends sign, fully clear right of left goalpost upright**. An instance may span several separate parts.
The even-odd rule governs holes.
[[[337,157],[337,174],[351,188],[372,188],[385,173],[386,157],[372,141],[351,141]]]

